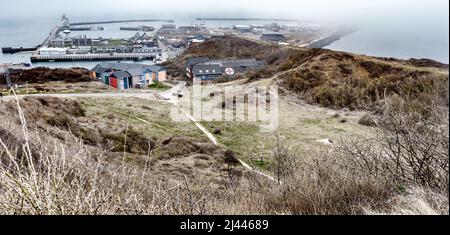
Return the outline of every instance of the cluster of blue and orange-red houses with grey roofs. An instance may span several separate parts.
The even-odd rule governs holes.
[[[91,70],[91,77],[116,89],[142,88],[166,81],[166,69],[156,65],[105,63]]]

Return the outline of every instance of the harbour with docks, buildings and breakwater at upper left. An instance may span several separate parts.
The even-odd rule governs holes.
[[[103,31],[99,25],[119,23],[162,22],[173,23],[173,20],[141,19],[114,20],[71,23],[63,15],[59,24],[52,28],[44,41],[35,47],[3,47],[3,54],[31,52],[30,61],[37,62],[72,62],[72,61],[161,61],[162,50],[158,41],[150,34],[155,30],[150,25],[137,27],[120,27],[120,30],[141,31],[147,34],[134,35],[129,38],[98,38],[70,36],[74,32]]]

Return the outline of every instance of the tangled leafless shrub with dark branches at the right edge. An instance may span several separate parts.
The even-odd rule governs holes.
[[[397,187],[419,185],[448,193],[448,110],[433,107],[433,115],[423,117],[391,105],[387,103],[377,138],[348,140],[340,150],[353,165],[385,176]]]

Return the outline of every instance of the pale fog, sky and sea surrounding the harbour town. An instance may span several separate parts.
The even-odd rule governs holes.
[[[330,49],[449,62],[448,0],[1,0],[0,8],[6,9],[0,14],[0,46],[39,43],[63,13],[71,21],[264,17],[358,28]]]

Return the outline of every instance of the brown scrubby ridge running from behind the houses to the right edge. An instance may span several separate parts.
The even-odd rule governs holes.
[[[180,75],[186,59],[197,56],[263,60],[265,69],[242,77],[275,78],[307,102],[331,108],[374,109],[394,95],[427,104],[437,95],[448,105],[448,65],[428,59],[376,58],[225,37],[192,46],[166,66]]]

